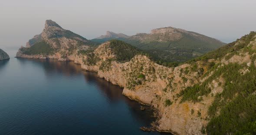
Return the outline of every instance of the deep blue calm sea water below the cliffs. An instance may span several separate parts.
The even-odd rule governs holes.
[[[0,61],[0,135],[160,135],[122,89],[73,62]]]

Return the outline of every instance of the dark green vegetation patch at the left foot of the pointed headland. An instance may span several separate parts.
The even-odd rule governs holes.
[[[54,48],[45,41],[37,42],[30,48],[21,48],[20,50],[25,55],[51,55],[54,53]]]

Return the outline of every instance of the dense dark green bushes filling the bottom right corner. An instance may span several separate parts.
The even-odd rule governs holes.
[[[208,135],[255,135],[256,95],[239,94],[210,120],[206,129]]]

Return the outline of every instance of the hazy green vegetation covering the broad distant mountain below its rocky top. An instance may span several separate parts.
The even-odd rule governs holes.
[[[148,34],[138,34],[136,37],[131,38],[117,38],[118,40],[127,42],[146,53],[150,54],[158,64],[163,64],[167,67],[172,67],[174,65],[169,65],[169,62],[184,62],[191,58],[195,58],[201,54],[204,54],[213,49],[217,49],[225,43],[219,42],[215,39],[209,38],[204,35],[200,35],[200,38],[193,36],[193,34],[198,34],[190,32],[190,34],[182,34],[182,38],[176,41],[171,41],[166,35],[167,42],[159,42],[158,34],[148,35]],[[138,37],[138,38],[137,38]],[[141,37],[141,39],[139,38]],[[145,38],[150,37],[150,38]],[[105,38],[105,39],[92,39],[94,42],[105,42],[116,38]],[[168,41],[169,40],[169,41]]]

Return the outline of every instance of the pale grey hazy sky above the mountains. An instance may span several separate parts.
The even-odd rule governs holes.
[[[0,0],[0,48],[18,49],[46,19],[86,39],[172,26],[233,42],[256,31],[256,0]]]

